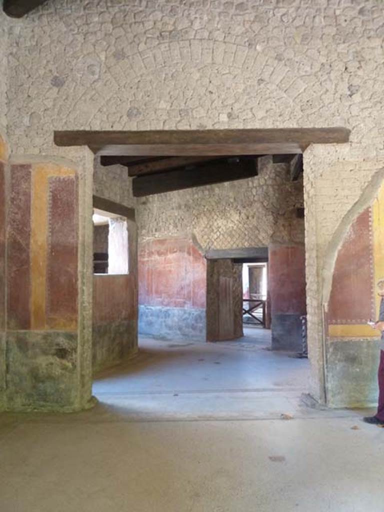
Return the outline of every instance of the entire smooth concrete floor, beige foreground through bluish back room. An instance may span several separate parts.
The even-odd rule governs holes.
[[[306,406],[308,361],[247,334],[142,339],[93,410],[1,415],[0,510],[382,512],[384,431]]]

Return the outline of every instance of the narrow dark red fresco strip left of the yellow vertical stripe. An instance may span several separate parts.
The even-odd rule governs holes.
[[[7,233],[8,329],[29,329],[31,166],[12,165]]]

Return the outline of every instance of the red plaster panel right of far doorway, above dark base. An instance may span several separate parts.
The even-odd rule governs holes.
[[[305,314],[304,246],[281,246],[270,249],[268,288],[272,314]]]

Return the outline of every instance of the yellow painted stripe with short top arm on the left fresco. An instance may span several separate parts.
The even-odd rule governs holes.
[[[54,164],[32,168],[31,201],[31,329],[46,329],[48,182],[55,176],[73,176],[75,171]]]

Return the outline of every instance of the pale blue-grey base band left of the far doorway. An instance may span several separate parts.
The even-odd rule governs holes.
[[[139,306],[139,333],[205,342],[205,309]]]

